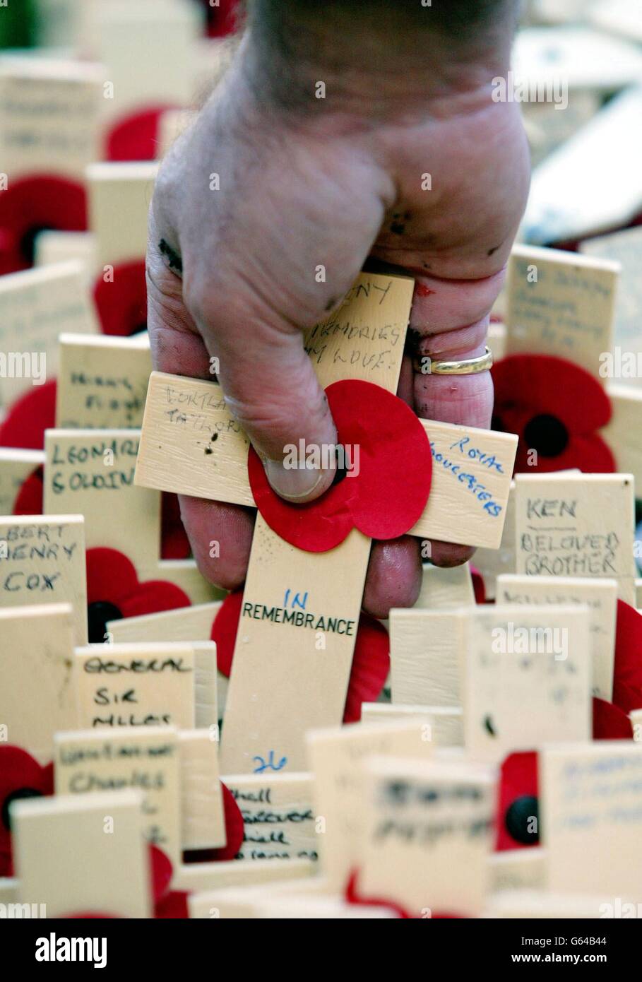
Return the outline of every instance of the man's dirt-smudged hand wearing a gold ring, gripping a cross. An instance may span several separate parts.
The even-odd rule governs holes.
[[[528,187],[518,109],[491,99],[491,80],[508,71],[506,10],[506,23],[491,19],[471,40],[449,43],[431,8],[427,27],[411,27],[395,13],[390,23],[348,18],[342,6],[317,23],[315,12],[296,19],[298,4],[287,0],[292,33],[271,42],[257,4],[230,73],[164,161],[150,213],[155,367],[211,378],[218,358],[229,408],[272,486],[299,502],[334,474],[284,468],[285,445],[336,442],[301,329],[326,318],[374,258],[416,280],[415,355],[483,354]],[[316,98],[318,82],[325,98]],[[406,356],[399,395],[424,418],[490,424],[488,372],[413,374]],[[188,497],[181,510],[201,572],[240,585],[250,513]],[[432,543],[438,565],[470,555]],[[415,601],[420,580],[416,539],[375,542],[364,607],[386,617]]]

